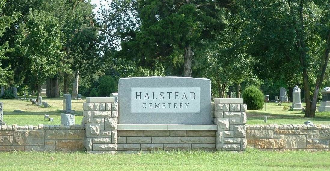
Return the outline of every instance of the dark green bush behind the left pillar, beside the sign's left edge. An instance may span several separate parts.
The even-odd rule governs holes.
[[[114,77],[103,76],[100,78],[97,95],[99,97],[109,97],[110,93],[118,91],[118,82]]]

